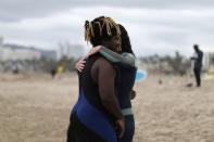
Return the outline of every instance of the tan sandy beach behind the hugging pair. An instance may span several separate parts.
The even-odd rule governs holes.
[[[149,75],[136,83],[134,142],[214,142],[214,80],[187,82],[194,79]],[[77,95],[75,74],[0,74],[0,142],[65,142]]]

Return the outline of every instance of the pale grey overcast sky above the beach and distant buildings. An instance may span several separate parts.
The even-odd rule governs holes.
[[[212,0],[0,0],[0,36],[43,49],[71,42],[88,50],[84,23],[100,15],[126,27],[137,55],[191,55],[194,43],[214,51]]]

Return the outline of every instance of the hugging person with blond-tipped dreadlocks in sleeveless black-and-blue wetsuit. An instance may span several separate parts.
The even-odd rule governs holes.
[[[101,44],[121,50],[119,27],[110,17],[98,17],[85,24],[85,38],[93,47]],[[79,77],[79,96],[72,109],[67,142],[117,142],[125,120],[116,98],[114,66],[101,54],[93,54]]]

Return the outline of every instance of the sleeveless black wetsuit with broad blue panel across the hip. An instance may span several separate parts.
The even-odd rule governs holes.
[[[79,73],[79,96],[71,113],[67,142],[117,142],[114,117],[103,107],[91,66],[100,57],[92,55]]]

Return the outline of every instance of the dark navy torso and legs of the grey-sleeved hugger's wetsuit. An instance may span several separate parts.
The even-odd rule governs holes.
[[[130,92],[135,83],[137,68],[135,66],[116,63],[117,66],[117,99],[125,117],[125,133],[119,142],[131,142],[135,133],[135,119],[131,111]]]

